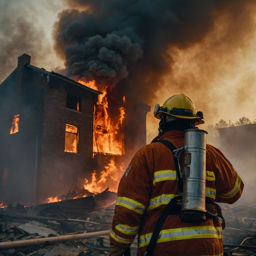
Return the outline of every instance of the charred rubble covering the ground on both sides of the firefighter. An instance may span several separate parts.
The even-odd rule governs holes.
[[[74,193],[72,194],[72,196]],[[36,207],[8,205],[0,209],[1,242],[46,239],[43,244],[0,249],[0,256],[108,256],[109,235],[114,216],[116,193],[68,199]],[[256,204],[232,207],[221,205],[226,228],[223,230],[223,249],[230,255],[256,255]],[[89,233],[95,237],[82,238]],[[91,234],[93,235],[93,234]],[[49,242],[70,236],[68,241]],[[79,239],[76,239],[80,236]],[[0,247],[1,248],[1,247]],[[137,255],[137,238],[131,245],[131,255]]]

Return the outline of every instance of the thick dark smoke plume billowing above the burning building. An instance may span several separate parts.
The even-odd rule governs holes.
[[[230,13],[237,31],[253,1],[242,0],[72,0],[59,13],[53,37],[70,77],[94,79],[98,85],[122,87],[148,103],[170,72],[168,47],[186,49]],[[73,8],[72,8],[73,7]],[[250,22],[252,17],[246,18]],[[241,23],[242,20],[242,23]],[[242,25],[241,25],[242,24]],[[247,24],[248,25],[248,24]],[[235,27],[235,26],[234,26]],[[233,31],[235,38],[236,31]],[[231,40],[228,38],[227,40]],[[120,82],[122,81],[122,82]]]

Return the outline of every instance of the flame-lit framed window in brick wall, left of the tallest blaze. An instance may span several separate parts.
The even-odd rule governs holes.
[[[66,124],[65,152],[78,153],[78,126]]]

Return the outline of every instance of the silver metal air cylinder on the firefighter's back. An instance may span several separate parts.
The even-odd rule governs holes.
[[[184,131],[183,197],[181,220],[203,222],[206,220],[206,134],[200,129]]]

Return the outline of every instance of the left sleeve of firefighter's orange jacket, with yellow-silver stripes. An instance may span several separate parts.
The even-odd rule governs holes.
[[[132,158],[118,187],[110,242],[119,247],[128,247],[133,242],[150,200],[152,181],[140,151]]]

